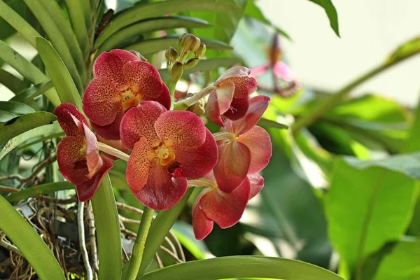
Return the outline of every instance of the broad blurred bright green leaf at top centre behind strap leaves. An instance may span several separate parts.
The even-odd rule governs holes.
[[[216,0],[216,4],[223,2],[225,0]],[[191,12],[191,16],[207,20],[213,26],[211,29],[194,29],[193,33],[200,38],[214,38],[229,43],[244,14],[246,0],[233,0],[232,3],[235,4],[234,10]]]

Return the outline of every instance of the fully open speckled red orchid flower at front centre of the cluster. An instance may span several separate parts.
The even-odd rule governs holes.
[[[121,141],[132,149],[126,177],[146,207],[174,207],[187,190],[187,178],[200,178],[217,162],[216,140],[188,111],[167,111],[158,102],[140,102],[125,113]]]

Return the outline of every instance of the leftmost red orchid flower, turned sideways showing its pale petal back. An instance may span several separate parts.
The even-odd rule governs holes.
[[[57,146],[58,170],[76,185],[78,200],[85,202],[94,195],[113,164],[99,155],[97,138],[76,106],[62,103],[54,113],[66,134]]]

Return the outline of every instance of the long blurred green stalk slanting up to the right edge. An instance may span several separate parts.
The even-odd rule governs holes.
[[[420,48],[418,50],[413,50],[409,52],[405,56],[396,57],[395,59],[388,60],[383,64],[367,71],[362,76],[356,78],[355,80],[351,81],[349,84],[342,87],[338,90],[335,94],[332,94],[328,99],[324,102],[316,106],[313,110],[307,112],[302,118],[298,119],[296,123],[292,125],[293,134],[297,134],[303,127],[308,127],[312,123],[314,123],[318,118],[321,118],[325,113],[327,113],[332,107],[336,106],[341,102],[347,94],[351,92],[355,87],[358,87],[361,83],[364,83],[366,80],[376,76],[377,74],[381,73],[382,71],[398,64],[399,62],[404,61],[405,59],[412,57],[420,52]]]

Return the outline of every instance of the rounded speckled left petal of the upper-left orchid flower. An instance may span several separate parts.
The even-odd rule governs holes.
[[[94,78],[83,95],[83,111],[91,122],[109,125],[123,112],[120,92],[106,77]]]

